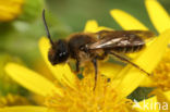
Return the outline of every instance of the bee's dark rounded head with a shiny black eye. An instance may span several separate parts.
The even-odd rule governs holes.
[[[59,39],[53,42],[52,47],[48,52],[48,60],[52,65],[63,63],[69,59],[70,52],[68,42],[65,40]]]

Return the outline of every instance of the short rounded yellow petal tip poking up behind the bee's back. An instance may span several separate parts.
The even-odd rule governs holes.
[[[85,25],[84,32],[87,33],[96,33],[96,29],[98,28],[98,24],[96,21],[88,21]]]

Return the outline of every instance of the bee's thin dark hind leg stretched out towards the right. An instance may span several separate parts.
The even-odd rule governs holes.
[[[109,52],[109,53],[112,54],[112,55],[114,55],[116,58],[118,58],[118,59],[120,59],[120,60],[122,60],[122,61],[124,61],[124,62],[126,62],[126,63],[129,63],[129,64],[135,66],[135,67],[138,69],[139,71],[142,71],[142,72],[144,72],[145,74],[147,74],[148,76],[150,76],[150,74],[149,74],[148,72],[146,72],[146,71],[143,70],[143,69],[141,69],[137,64],[131,62],[130,60],[127,60],[127,59],[121,57],[120,54],[118,54],[118,53],[116,53],[116,52]]]

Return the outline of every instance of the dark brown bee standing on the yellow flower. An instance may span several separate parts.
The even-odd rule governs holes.
[[[51,48],[48,52],[48,60],[52,65],[68,62],[69,59],[76,61],[76,72],[83,63],[92,62],[95,69],[95,86],[98,74],[98,60],[106,59],[107,55],[113,55],[123,62],[126,62],[147,75],[150,75],[137,64],[121,53],[141,51],[145,48],[145,39],[154,37],[149,30],[100,30],[98,33],[75,33],[66,39],[53,41],[51,39],[46,18],[42,11],[42,21],[47,32],[47,37]]]

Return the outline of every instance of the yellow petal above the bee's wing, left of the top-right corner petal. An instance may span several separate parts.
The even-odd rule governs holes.
[[[143,25],[139,21],[137,21],[132,15],[121,11],[121,10],[111,10],[111,16],[122,26],[124,29],[143,29],[147,30],[148,28]]]

